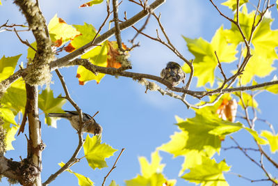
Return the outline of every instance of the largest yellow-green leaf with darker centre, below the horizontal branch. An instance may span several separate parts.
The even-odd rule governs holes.
[[[216,96],[216,95],[215,95]],[[214,97],[211,99],[214,99]],[[195,118],[188,118],[186,121],[176,116],[177,125],[182,130],[172,135],[171,141],[158,147],[174,155],[185,158],[179,175],[186,169],[202,164],[203,157],[213,157],[220,150],[221,140],[227,134],[242,129],[241,123],[223,121],[216,113],[216,110],[224,99],[230,100],[230,95],[223,95],[222,98],[210,107],[204,107],[196,111]]]

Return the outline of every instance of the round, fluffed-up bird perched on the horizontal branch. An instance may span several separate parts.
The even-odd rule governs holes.
[[[179,63],[170,61],[167,63],[166,67],[161,70],[161,77],[172,84],[172,86],[177,86],[181,82],[184,84],[186,74],[181,69],[181,65],[179,65]]]

